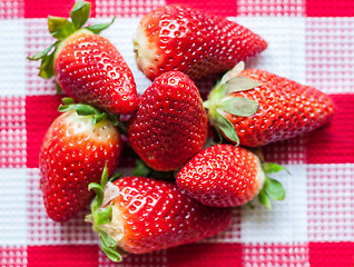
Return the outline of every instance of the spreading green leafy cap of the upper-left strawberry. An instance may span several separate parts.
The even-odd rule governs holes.
[[[49,79],[53,76],[53,63],[55,55],[60,47],[60,43],[71,36],[73,32],[80,29],[87,29],[96,34],[100,33],[102,30],[107,29],[114,21],[110,23],[100,23],[88,26],[82,28],[90,17],[91,4],[86,1],[78,1],[71,9],[70,20],[60,17],[48,16],[48,30],[50,34],[57,39],[55,43],[46,48],[43,51],[40,51],[33,56],[27,57],[29,60],[41,60],[39,67],[39,76]]]

